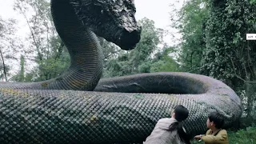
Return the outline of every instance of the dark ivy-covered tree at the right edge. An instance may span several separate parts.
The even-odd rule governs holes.
[[[202,74],[222,80],[234,90],[245,90],[250,116],[256,95],[256,41],[247,41],[246,34],[256,33],[256,5],[247,0],[215,0],[209,6]]]

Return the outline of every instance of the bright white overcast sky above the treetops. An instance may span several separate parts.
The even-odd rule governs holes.
[[[137,10],[135,14],[137,20],[145,17],[149,18],[155,22],[156,27],[164,30],[170,30],[170,2],[177,2],[177,7],[182,6],[182,0],[135,0],[134,2]],[[0,0],[0,3],[2,3],[2,5],[0,5],[0,16],[2,18],[16,18],[24,22],[23,24],[20,23],[19,26],[21,29],[18,30],[19,34],[24,35],[28,28],[26,28],[26,22],[22,15],[14,12],[14,0]],[[165,41],[170,43],[171,40],[167,37]]]

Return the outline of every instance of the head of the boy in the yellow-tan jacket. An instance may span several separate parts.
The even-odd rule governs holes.
[[[207,128],[211,128],[212,126],[216,127],[217,129],[222,128],[224,124],[224,119],[222,114],[219,114],[217,111],[214,111],[209,114],[206,125]]]

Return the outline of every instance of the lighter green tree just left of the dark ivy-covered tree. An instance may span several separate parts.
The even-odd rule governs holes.
[[[177,13],[173,26],[182,34],[179,61],[185,71],[200,73],[202,53],[206,47],[204,27],[209,17],[207,1],[190,0]]]

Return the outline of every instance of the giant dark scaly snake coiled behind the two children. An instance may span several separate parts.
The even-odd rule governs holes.
[[[0,143],[142,142],[178,104],[190,111],[190,135],[205,132],[211,111],[224,116],[226,128],[240,118],[238,95],[214,78],[169,72],[100,79],[95,34],[134,49],[141,27],[133,0],[51,0],[51,12],[70,68],[45,82],[1,83]]]

